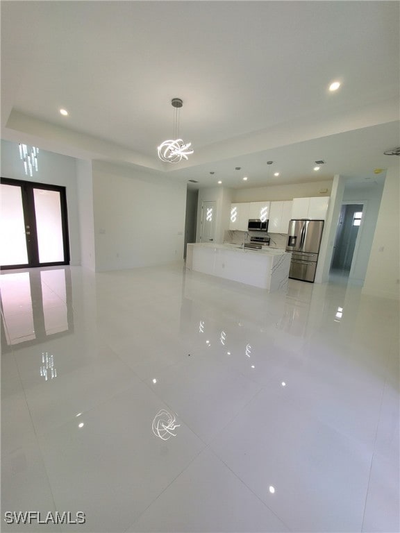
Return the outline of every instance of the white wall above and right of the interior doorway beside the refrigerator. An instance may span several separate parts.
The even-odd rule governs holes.
[[[379,206],[381,204],[383,185],[376,184],[368,189],[344,189],[343,201],[363,202],[363,224],[360,227],[360,244],[354,251],[353,264],[351,265],[351,278],[363,282],[367,273],[369,253],[376,221],[378,219]]]

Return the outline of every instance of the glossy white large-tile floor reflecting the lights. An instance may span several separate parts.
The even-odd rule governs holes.
[[[86,516],[3,531],[399,531],[394,301],[182,265],[0,283],[3,513]]]

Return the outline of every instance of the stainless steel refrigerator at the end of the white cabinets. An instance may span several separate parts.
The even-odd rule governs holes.
[[[291,220],[286,251],[292,252],[289,278],[313,283],[321,244],[323,220]]]

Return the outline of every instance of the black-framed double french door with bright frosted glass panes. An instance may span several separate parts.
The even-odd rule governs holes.
[[[1,178],[1,269],[69,264],[65,187]]]

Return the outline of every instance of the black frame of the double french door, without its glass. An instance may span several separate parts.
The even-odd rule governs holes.
[[[15,180],[12,178],[0,178],[0,183],[3,185],[14,185],[21,187],[22,192],[22,208],[24,210],[24,226],[31,232],[31,239],[26,239],[26,250],[28,253],[28,263],[26,264],[7,264],[0,265],[1,270],[10,269],[24,269],[34,267],[57,267],[69,264],[69,236],[68,236],[68,214],[67,214],[67,192],[66,187],[62,185],[50,185],[48,183],[38,183],[28,180]],[[55,191],[60,193],[60,211],[61,211],[61,229],[63,232],[63,250],[64,261],[40,263],[38,235],[36,228],[35,216],[35,201],[33,198],[33,189],[44,189],[47,191]]]

